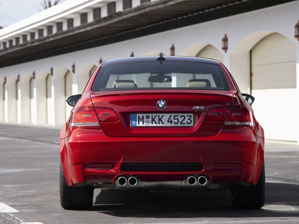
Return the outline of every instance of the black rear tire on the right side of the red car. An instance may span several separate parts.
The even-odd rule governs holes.
[[[234,208],[259,209],[265,204],[265,163],[258,183],[255,186],[231,187],[231,200]]]

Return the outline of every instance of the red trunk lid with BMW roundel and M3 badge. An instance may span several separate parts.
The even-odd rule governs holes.
[[[211,136],[220,131],[223,122],[204,121],[206,113],[214,107],[230,107],[233,94],[231,91],[122,90],[93,92],[90,97],[94,107],[111,108],[119,117],[117,122],[101,123],[103,131],[109,136]],[[158,109],[159,100],[167,103],[164,110]],[[193,126],[133,127],[132,113],[192,113]]]

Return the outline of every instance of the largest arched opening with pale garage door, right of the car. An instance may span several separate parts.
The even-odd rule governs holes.
[[[265,137],[296,141],[296,45],[279,33],[264,37],[251,50],[251,72],[253,108]]]

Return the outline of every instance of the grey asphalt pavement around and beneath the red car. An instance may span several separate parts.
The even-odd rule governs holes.
[[[59,129],[0,124],[0,224],[299,223],[299,146],[266,143],[266,206],[231,208],[229,191],[95,190],[88,211],[59,204]],[[3,204],[4,203],[4,204]],[[2,209],[2,210],[1,210]],[[18,212],[17,212],[18,211]]]

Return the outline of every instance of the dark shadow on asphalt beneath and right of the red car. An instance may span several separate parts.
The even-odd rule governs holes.
[[[199,192],[145,193],[102,190],[91,211],[115,217],[299,217],[299,185],[266,183],[266,206],[259,210],[233,209],[229,189]]]

